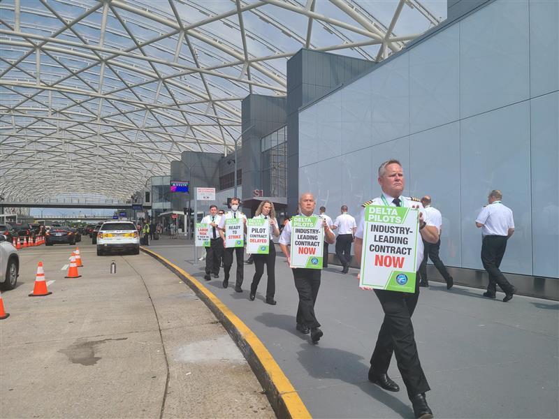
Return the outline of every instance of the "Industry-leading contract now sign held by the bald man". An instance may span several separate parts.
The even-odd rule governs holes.
[[[323,221],[319,216],[294,216],[291,219],[291,267],[322,269]]]

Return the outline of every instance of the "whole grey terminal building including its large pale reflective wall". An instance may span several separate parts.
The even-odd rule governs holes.
[[[449,1],[446,21],[379,64],[300,50],[286,97],[242,100],[245,211],[267,197],[291,216],[311,191],[331,216],[341,205],[357,216],[379,196],[379,164],[398,159],[405,194],[442,212],[440,254],[455,277],[483,284],[474,220],[500,189],[515,219],[502,270],[525,293],[558,296],[557,16],[546,1]],[[217,188],[223,205],[233,157],[183,152],[170,177]]]

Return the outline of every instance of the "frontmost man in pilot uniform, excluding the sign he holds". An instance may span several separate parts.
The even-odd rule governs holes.
[[[382,188],[382,195],[363,204],[363,207],[366,207],[366,205],[384,205],[387,207],[419,208],[419,225],[417,228],[421,233],[421,239],[429,243],[436,243],[439,239],[437,228],[428,219],[423,210],[423,205],[416,198],[402,196],[405,184],[404,172],[398,160],[389,160],[382,163],[379,167],[378,182]],[[354,242],[355,258],[359,265],[361,265],[364,230],[365,208],[361,211],[357,221]],[[423,260],[423,242],[417,240],[416,245],[415,270],[418,271],[421,260]],[[419,278],[419,274],[417,278]],[[425,397],[425,392],[430,388],[419,362],[412,325],[412,314],[419,297],[419,281],[416,281],[414,293],[375,289],[375,294],[382,305],[384,321],[379,331],[375,351],[373,351],[370,360],[369,381],[376,383],[384,390],[400,390],[398,384],[386,374],[392,353],[394,353],[402,380],[407,388],[407,395],[412,402],[415,417],[421,419],[433,418],[433,412],[429,408]]]

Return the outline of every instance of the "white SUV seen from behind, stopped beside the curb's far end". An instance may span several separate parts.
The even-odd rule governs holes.
[[[140,253],[140,233],[131,221],[106,221],[97,234],[97,256],[112,250]]]

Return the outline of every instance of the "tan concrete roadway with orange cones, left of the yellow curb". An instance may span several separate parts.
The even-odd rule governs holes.
[[[89,243],[89,244],[88,244]],[[20,251],[2,294],[0,418],[274,418],[247,360],[210,309],[151,256],[73,247]],[[51,295],[28,297],[38,261]],[[117,273],[110,274],[114,260]]]

